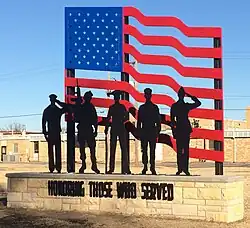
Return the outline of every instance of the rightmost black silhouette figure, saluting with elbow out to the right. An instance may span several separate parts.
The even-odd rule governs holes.
[[[187,95],[194,103],[185,103],[184,97]],[[188,119],[188,113],[201,105],[201,102],[194,96],[185,93],[183,87],[178,91],[179,100],[171,107],[171,128],[177,145],[177,166],[176,175],[184,172],[187,176],[189,173],[189,142],[192,127]]]

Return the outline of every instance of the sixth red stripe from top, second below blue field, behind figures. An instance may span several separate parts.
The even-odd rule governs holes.
[[[76,98],[76,97],[67,96],[67,98],[68,98],[67,101],[70,101],[71,98]],[[73,103],[73,102],[69,102],[69,103]],[[137,119],[137,109],[130,102],[126,100],[121,100],[121,103],[125,105],[125,107],[132,114],[132,116],[135,119]],[[114,100],[105,99],[105,98],[93,98],[92,104],[95,105],[96,107],[109,108],[112,104],[114,104]],[[168,115],[162,114],[161,116],[162,116],[162,124],[166,124],[166,122],[170,120],[170,117]],[[219,130],[194,128],[191,134],[191,138],[223,141],[224,135],[223,135],[223,131],[219,131]]]

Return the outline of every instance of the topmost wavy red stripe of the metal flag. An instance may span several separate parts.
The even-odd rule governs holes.
[[[145,16],[134,7],[124,7],[123,15],[134,17],[146,26],[165,26],[179,29],[188,37],[219,38],[222,36],[221,28],[218,27],[189,27],[176,17]]]

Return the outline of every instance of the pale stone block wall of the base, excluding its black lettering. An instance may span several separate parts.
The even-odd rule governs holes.
[[[234,222],[243,219],[241,177],[121,176],[92,174],[11,173],[8,177],[8,207],[57,211],[121,213]],[[85,196],[49,196],[48,180],[84,181]],[[112,198],[91,197],[89,182],[112,182]],[[117,182],[136,183],[136,198],[117,197]],[[173,184],[173,200],[143,199],[142,183]]]

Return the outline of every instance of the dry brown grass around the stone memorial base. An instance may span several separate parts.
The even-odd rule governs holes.
[[[169,165],[170,166],[170,165]],[[172,166],[172,165],[171,165]],[[207,164],[202,164],[202,168],[191,168],[192,174],[213,175],[214,168]],[[101,167],[103,168],[103,167]],[[26,164],[10,165],[0,164],[0,183],[5,188],[6,172],[20,171],[47,171],[46,165]],[[140,167],[133,167],[133,172],[139,172]],[[174,173],[174,167],[166,167],[166,164],[157,167],[158,173]],[[78,212],[52,212],[52,211],[34,211],[34,210],[14,210],[6,209],[4,206],[0,208],[0,227],[91,227],[91,228],[206,228],[206,227],[227,227],[227,228],[246,228],[250,227],[250,167],[226,167],[225,175],[244,176],[245,177],[245,218],[243,221],[232,224],[220,224],[194,220],[176,220],[164,218],[149,218],[135,216],[121,216],[111,214],[83,214]]]

